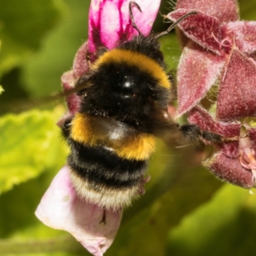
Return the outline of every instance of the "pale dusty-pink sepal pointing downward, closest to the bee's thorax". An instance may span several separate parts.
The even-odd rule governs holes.
[[[220,76],[224,59],[193,42],[184,48],[177,71],[178,115],[198,104]]]

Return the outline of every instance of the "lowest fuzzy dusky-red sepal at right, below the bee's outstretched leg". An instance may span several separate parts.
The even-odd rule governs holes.
[[[252,188],[255,185],[253,173],[241,166],[239,158],[230,158],[218,152],[207,159],[204,166],[221,180],[231,184],[242,188]]]

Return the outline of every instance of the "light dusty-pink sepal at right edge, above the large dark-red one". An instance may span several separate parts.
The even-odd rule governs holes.
[[[234,40],[241,52],[246,54],[256,52],[256,21],[228,22],[221,29],[223,36]]]

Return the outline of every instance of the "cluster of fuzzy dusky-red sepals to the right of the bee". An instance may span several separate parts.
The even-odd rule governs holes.
[[[184,50],[177,72],[178,115],[188,113],[190,124],[223,136],[205,166],[220,179],[252,188],[256,22],[239,21],[235,0],[180,0],[168,18],[175,21],[191,10],[198,14],[179,24]]]

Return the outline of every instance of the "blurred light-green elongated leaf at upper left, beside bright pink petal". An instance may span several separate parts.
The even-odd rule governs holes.
[[[90,1],[64,1],[65,15],[42,43],[42,48],[25,65],[26,89],[36,97],[59,91],[60,77],[72,68],[74,56],[88,36]]]

